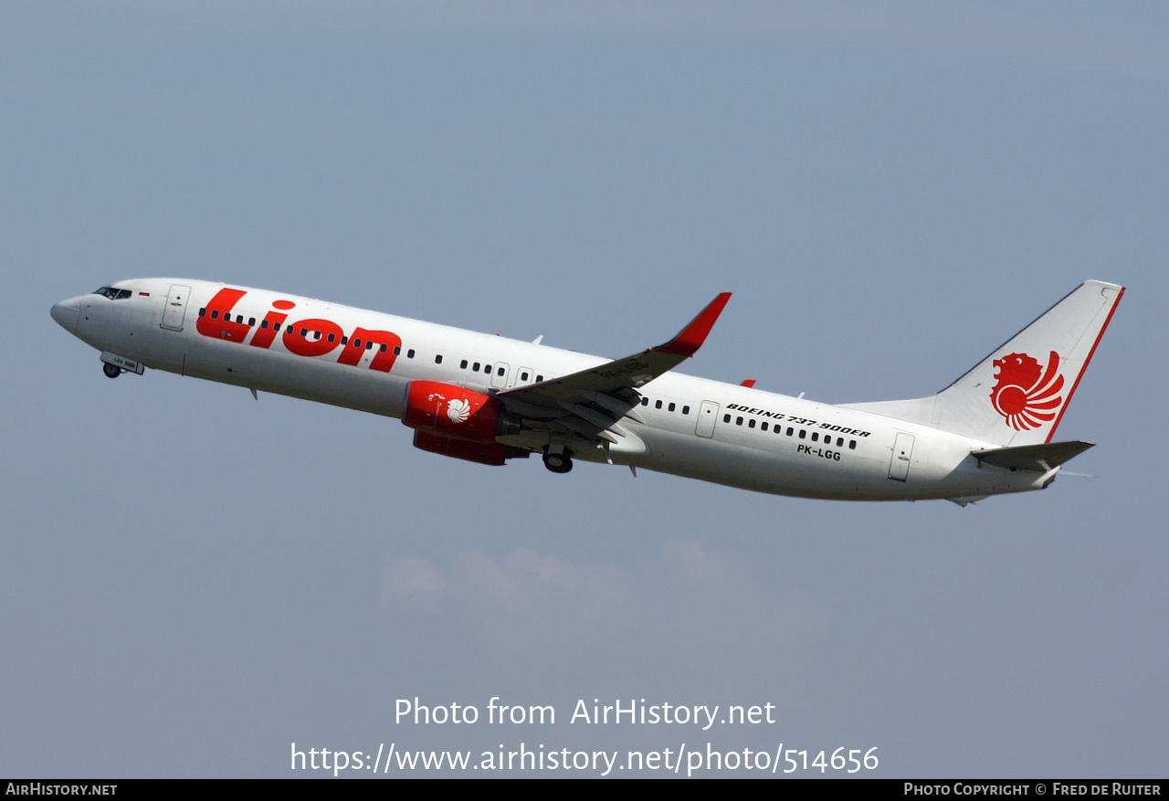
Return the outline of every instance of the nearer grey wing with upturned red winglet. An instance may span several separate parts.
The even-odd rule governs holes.
[[[622,417],[641,422],[634,410],[637,389],[692,357],[706,340],[731,292],[714,298],[678,334],[657,347],[589,367],[577,373],[531,384],[496,395],[512,413],[530,420],[559,423],[592,440],[616,442],[610,434]]]

